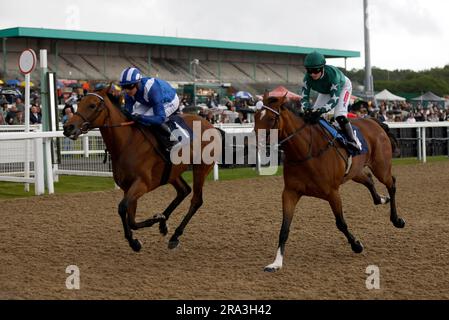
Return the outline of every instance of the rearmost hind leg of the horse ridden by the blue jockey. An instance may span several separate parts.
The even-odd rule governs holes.
[[[168,242],[168,248],[174,249],[178,246],[178,238],[183,234],[184,228],[189,223],[190,219],[193,217],[195,212],[203,204],[203,185],[206,180],[207,175],[213,167],[211,165],[194,165],[193,166],[193,196],[190,203],[190,208],[184,219],[182,219],[179,226],[176,228],[175,232],[171,236]]]

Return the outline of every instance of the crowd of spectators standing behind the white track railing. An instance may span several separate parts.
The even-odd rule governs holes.
[[[75,92],[64,101],[64,107],[60,115],[64,124],[73,116],[75,105],[82,97]],[[38,93],[31,97],[30,124],[39,124],[42,121],[40,99]],[[258,99],[235,99],[233,96],[225,97],[219,103],[217,97],[208,99],[208,103],[193,107],[187,103],[185,97],[181,97],[180,110],[182,112],[194,112],[207,119],[210,123],[247,123],[251,122],[252,114],[256,111]],[[425,105],[425,106],[424,106]],[[300,108],[299,104],[294,108]],[[409,102],[378,101],[376,106],[371,101],[355,101],[348,107],[348,117],[365,118],[374,117],[381,122],[437,122],[449,121],[449,106],[433,104],[431,102],[412,104]],[[25,124],[25,105],[20,97],[9,103],[5,96],[0,96],[0,125]]]

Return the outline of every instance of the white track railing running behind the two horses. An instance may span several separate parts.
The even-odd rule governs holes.
[[[218,124],[217,128],[227,133],[250,133],[253,124]],[[418,159],[423,163],[426,157],[426,128],[446,127],[449,137],[448,122],[419,122],[419,123],[388,123],[390,128],[415,128],[417,130]],[[8,131],[21,130],[8,128]],[[61,131],[41,132],[39,128],[34,132],[1,132],[0,128],[0,181],[34,183],[35,194],[54,193],[54,181],[58,175],[86,175],[112,176],[110,165],[103,163],[105,147],[99,131],[90,131],[82,135],[76,142],[68,140]],[[448,139],[449,144],[449,139]],[[55,152],[55,145],[59,145],[60,152]],[[14,151],[15,150],[15,151]],[[449,150],[449,147],[448,147]],[[59,161],[54,161],[60,155]],[[33,165],[33,170],[26,174],[26,161]],[[86,169],[86,163],[88,169]],[[9,172],[2,171],[8,168]],[[12,166],[12,167],[11,167]],[[90,167],[89,167],[90,166]],[[12,169],[11,169],[12,168]],[[214,179],[218,180],[218,165],[215,164]]]

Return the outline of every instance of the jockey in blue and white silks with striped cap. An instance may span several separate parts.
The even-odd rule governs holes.
[[[166,120],[179,109],[179,98],[170,84],[158,78],[143,77],[139,69],[126,68],[120,74],[120,86],[125,90],[125,110],[135,122],[157,126],[168,136],[169,151],[178,139],[172,134]]]

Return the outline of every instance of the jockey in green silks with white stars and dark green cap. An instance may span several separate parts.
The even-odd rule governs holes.
[[[346,133],[348,145],[361,150],[361,144],[354,135],[351,123],[347,119],[348,105],[352,93],[352,84],[338,68],[326,65],[324,56],[314,51],[304,60],[307,73],[302,88],[302,107],[304,111],[312,109],[321,114],[334,109],[334,118]],[[315,104],[310,104],[310,90],[318,92]]]

